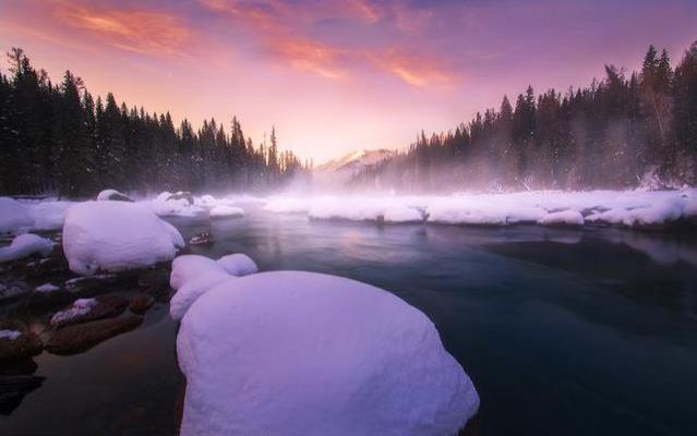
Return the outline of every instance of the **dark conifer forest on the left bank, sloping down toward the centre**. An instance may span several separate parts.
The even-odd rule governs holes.
[[[255,147],[237,118],[230,131],[214,119],[194,131],[167,113],[96,100],[70,71],[53,85],[22,49],[0,73],[0,193],[92,196],[127,192],[229,191],[281,186],[310,168],[271,143]]]

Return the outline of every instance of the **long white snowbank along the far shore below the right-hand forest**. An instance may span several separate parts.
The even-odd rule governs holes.
[[[441,196],[276,196],[265,210],[311,219],[472,226],[605,223],[660,226],[697,218],[697,189],[682,191],[536,191]],[[582,218],[579,219],[579,218]]]

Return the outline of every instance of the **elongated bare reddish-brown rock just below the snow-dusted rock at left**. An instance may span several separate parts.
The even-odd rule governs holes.
[[[132,330],[141,323],[143,323],[143,317],[128,315],[68,326],[53,332],[46,343],[46,349],[55,354],[77,353],[117,335]]]

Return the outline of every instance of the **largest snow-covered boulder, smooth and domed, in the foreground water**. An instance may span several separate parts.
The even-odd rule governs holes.
[[[479,397],[429,318],[312,272],[226,280],[184,315],[181,434],[455,435]]]

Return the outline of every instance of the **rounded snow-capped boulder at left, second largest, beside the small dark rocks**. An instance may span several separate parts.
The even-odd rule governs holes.
[[[117,272],[171,261],[184,240],[143,205],[86,202],[71,207],[63,226],[63,251],[74,272]]]

